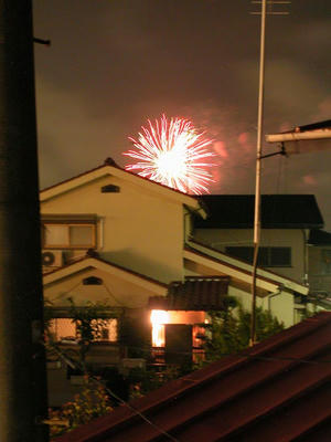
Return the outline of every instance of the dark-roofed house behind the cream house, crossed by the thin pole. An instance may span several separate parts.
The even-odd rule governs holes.
[[[253,262],[254,194],[209,194],[206,219],[194,220],[192,236],[228,255]],[[308,238],[323,227],[312,194],[263,194],[258,265],[308,283]]]

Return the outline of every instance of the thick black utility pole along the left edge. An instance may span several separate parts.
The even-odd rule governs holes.
[[[0,0],[0,441],[45,442],[32,2]]]

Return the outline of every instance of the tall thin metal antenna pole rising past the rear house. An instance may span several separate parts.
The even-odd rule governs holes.
[[[256,341],[256,272],[260,236],[260,175],[261,175],[261,136],[264,117],[264,81],[265,81],[265,30],[267,1],[261,2],[260,17],[260,51],[259,51],[259,83],[258,83],[258,113],[257,113],[257,143],[256,143],[256,182],[254,210],[254,259],[252,271],[252,320],[249,345]]]

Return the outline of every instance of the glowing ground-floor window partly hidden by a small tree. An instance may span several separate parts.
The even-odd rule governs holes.
[[[79,336],[77,335],[76,325],[72,318],[54,318],[50,323],[50,333],[55,341],[62,344],[78,344]],[[99,330],[99,337],[96,341],[117,341],[117,319],[103,319],[103,327]]]

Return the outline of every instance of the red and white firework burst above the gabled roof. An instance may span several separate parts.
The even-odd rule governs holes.
[[[138,140],[129,138],[135,149],[124,155],[138,162],[127,165],[126,169],[161,182],[182,192],[201,194],[209,192],[207,186],[213,181],[206,170],[213,164],[205,162],[215,154],[207,149],[213,141],[197,133],[192,122],[185,118],[171,118],[163,115],[154,126],[141,127]]]

